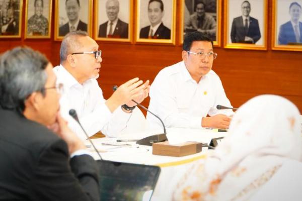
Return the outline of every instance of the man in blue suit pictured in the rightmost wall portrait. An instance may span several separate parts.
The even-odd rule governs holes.
[[[301,44],[302,43],[302,22],[301,5],[292,2],[289,6],[290,21],[280,26],[278,45]]]

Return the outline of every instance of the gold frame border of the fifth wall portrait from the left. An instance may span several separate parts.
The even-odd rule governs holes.
[[[171,26],[171,38],[170,39],[141,39],[139,38],[139,24],[140,24],[140,2],[142,0],[136,0],[136,6],[135,6],[135,33],[134,33],[134,38],[135,38],[135,43],[136,44],[167,44],[167,45],[175,45],[175,32],[176,32],[176,1],[172,0],[172,12],[171,12],[171,17],[172,17],[172,26]]]

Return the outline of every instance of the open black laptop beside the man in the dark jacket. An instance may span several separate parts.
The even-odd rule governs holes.
[[[100,168],[101,200],[150,200],[161,168],[107,160],[97,160]]]

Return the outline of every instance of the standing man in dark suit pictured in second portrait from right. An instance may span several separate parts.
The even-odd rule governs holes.
[[[244,1],[241,4],[242,16],[234,18],[231,30],[232,43],[252,43],[255,44],[260,38],[260,28],[258,20],[250,16],[251,4]]]

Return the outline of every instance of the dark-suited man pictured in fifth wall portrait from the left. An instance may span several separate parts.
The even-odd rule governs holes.
[[[171,30],[162,22],[164,14],[164,3],[162,0],[149,0],[148,19],[150,25],[140,29],[139,38],[170,39]]]

